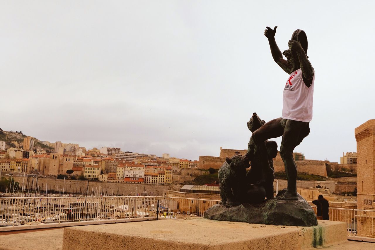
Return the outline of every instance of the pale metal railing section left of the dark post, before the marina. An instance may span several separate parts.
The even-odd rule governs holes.
[[[156,216],[154,196],[0,198],[0,226]]]

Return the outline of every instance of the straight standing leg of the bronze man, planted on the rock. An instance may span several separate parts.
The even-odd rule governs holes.
[[[287,192],[282,194],[279,199],[297,200],[297,165],[293,158],[293,150],[300,143],[300,133],[303,133],[303,130],[308,126],[308,122],[284,120],[284,124],[284,134],[280,145],[280,156],[284,161],[288,187]]]

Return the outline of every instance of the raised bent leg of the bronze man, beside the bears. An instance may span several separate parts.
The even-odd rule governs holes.
[[[254,133],[252,133],[251,135],[261,155],[262,166],[264,166],[263,181],[266,181],[266,176],[270,174],[273,175],[273,169],[270,166],[270,162],[268,159],[268,151],[266,143],[264,141],[270,138],[277,138],[283,135],[284,128],[281,126],[280,121],[281,118],[270,120],[269,122],[266,122],[262,127],[254,131]]]

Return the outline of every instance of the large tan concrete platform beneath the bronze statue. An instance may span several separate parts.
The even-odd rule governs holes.
[[[346,224],[337,221],[319,220],[318,226],[297,227],[195,218],[67,227],[63,250],[294,250],[344,241],[347,241]]]

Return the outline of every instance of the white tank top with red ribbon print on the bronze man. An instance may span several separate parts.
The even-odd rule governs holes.
[[[314,76],[310,87],[303,82],[302,70],[292,72],[283,92],[283,119],[309,122],[312,120],[312,97],[314,94]]]

